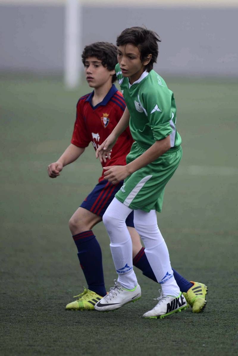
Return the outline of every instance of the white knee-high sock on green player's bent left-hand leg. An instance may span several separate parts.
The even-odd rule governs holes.
[[[132,263],[132,242],[125,220],[132,209],[114,198],[105,211],[102,220],[110,237],[110,248],[118,282],[127,289],[137,285]]]

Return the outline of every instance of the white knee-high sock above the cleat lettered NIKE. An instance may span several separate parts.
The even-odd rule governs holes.
[[[134,210],[134,224],[145,244],[145,253],[164,295],[178,296],[179,287],[173,277],[166,243],[157,225],[156,210],[146,213]]]

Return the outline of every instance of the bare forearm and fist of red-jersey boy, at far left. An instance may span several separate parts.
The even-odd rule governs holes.
[[[60,176],[60,172],[62,171],[63,167],[67,166],[67,164],[76,161],[76,159],[82,155],[84,150],[85,148],[77,147],[70,143],[70,145],[66,148],[65,152],[62,154],[62,156],[60,156],[60,158],[56,162],[49,164],[49,177],[56,178]]]

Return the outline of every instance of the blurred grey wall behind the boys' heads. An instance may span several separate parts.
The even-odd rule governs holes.
[[[63,72],[66,3],[0,0],[0,70]],[[105,40],[115,43],[124,28],[145,25],[162,40],[155,67],[159,72],[238,75],[238,0],[81,0],[78,4],[73,36],[79,59],[83,46]]]

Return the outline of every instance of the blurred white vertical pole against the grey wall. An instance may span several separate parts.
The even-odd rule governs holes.
[[[80,80],[81,28],[80,1],[66,0],[64,81],[68,89],[77,87]]]

